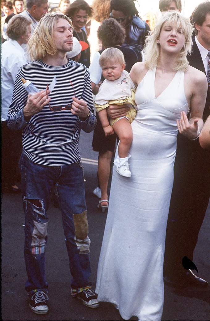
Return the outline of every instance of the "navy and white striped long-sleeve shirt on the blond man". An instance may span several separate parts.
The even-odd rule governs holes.
[[[74,96],[83,99],[90,110],[87,120],[80,121],[70,110],[52,111],[48,105],[31,116],[29,122],[24,120],[28,92],[21,78],[30,80],[41,91],[46,90],[54,76],[57,82],[49,94],[50,106],[65,107],[72,103]],[[61,166],[80,160],[79,128],[89,133],[96,126],[88,69],[72,60],[64,66],[49,66],[36,60],[21,67],[14,84],[7,124],[10,129],[23,128],[23,153],[35,163]]]

